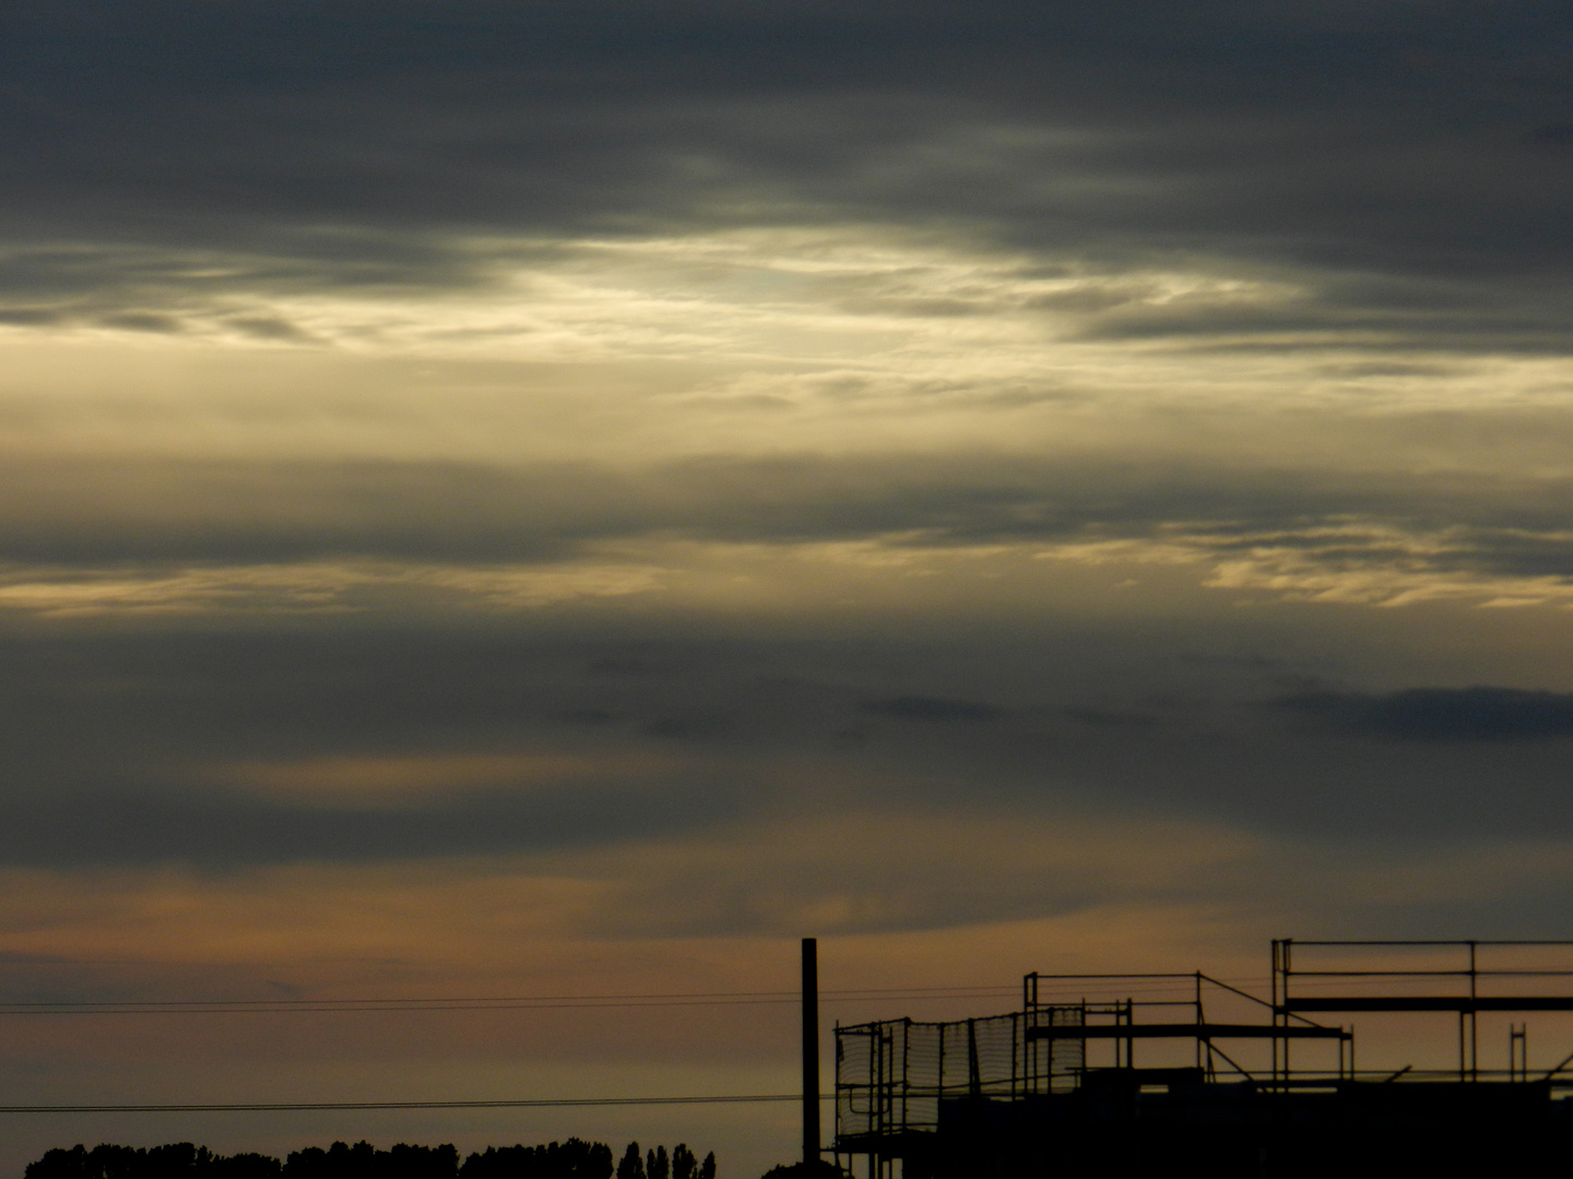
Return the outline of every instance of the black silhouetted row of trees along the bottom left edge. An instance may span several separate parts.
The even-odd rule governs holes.
[[[716,1152],[703,1162],[678,1143],[640,1152],[629,1143],[613,1166],[612,1148],[569,1138],[541,1146],[488,1146],[459,1162],[453,1144],[379,1151],[371,1143],[307,1146],[278,1162],[266,1154],[214,1154],[206,1146],[113,1146],[49,1151],[27,1179],[716,1179]]]

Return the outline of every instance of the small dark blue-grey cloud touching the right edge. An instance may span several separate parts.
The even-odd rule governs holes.
[[[1354,733],[1400,740],[1538,740],[1573,736],[1573,693],[1504,687],[1318,692],[1280,707]]]

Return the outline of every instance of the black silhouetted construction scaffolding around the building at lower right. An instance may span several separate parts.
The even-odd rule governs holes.
[[[1573,1129],[1573,1052],[1532,1074],[1518,1022],[1507,1067],[1479,1050],[1480,1012],[1529,1011],[1573,1012],[1573,942],[1284,938],[1268,997],[1202,971],[1029,973],[1021,1011],[837,1027],[834,1149],[868,1179],[1184,1174],[1188,1152],[1254,1179],[1542,1159]],[[1457,1017],[1457,1069],[1359,1069],[1354,1028],[1313,1019],[1343,1014]]]

